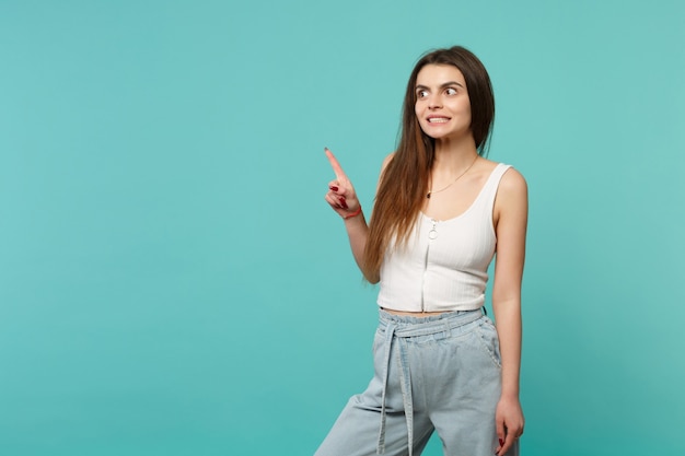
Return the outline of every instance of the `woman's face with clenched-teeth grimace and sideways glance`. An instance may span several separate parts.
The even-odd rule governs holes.
[[[427,65],[416,79],[414,112],[426,135],[460,139],[471,132],[471,101],[464,75],[451,65]]]

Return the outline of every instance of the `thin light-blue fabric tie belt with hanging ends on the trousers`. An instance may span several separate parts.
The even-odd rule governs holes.
[[[437,330],[450,330],[452,328],[475,321],[483,316],[480,309],[465,313],[449,314],[443,320],[428,320],[426,325],[418,325],[408,328],[399,328],[397,323],[390,319],[385,323],[385,353],[383,356],[383,394],[381,397],[381,430],[379,432],[379,444],[376,454],[385,453],[385,394],[387,390],[387,377],[390,373],[390,354],[393,340],[397,338],[397,359],[399,362],[399,386],[402,387],[402,401],[407,420],[407,445],[408,456],[413,456],[414,451],[414,400],[411,397],[411,371],[407,355],[407,338],[434,334]]]

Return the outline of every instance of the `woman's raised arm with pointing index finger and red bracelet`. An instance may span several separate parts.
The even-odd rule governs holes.
[[[335,180],[328,183],[328,192],[325,199],[333,210],[345,220],[345,229],[347,230],[347,235],[350,241],[352,256],[355,257],[355,261],[357,261],[357,266],[363,272],[362,265],[367,238],[369,236],[369,226],[361,211],[361,204],[357,198],[352,183],[342,171],[340,163],[338,163],[333,152],[328,149],[325,151],[336,176]],[[383,171],[391,159],[392,154],[383,161],[381,175],[383,175]],[[380,280],[379,277],[365,277],[365,279],[371,283],[378,283]]]

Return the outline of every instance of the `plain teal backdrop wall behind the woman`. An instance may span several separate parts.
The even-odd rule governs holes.
[[[376,319],[323,149],[370,211],[414,62],[461,44],[489,156],[530,186],[523,454],[685,454],[684,23],[680,0],[0,0],[0,453],[313,454]]]

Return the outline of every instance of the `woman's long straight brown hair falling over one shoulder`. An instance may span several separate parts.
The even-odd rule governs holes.
[[[461,46],[423,55],[407,83],[399,143],[381,176],[369,224],[363,269],[364,277],[372,281],[379,277],[390,241],[395,237],[398,244],[406,243],[426,199],[436,141],[421,130],[414,108],[416,79],[427,65],[450,65],[462,72],[471,100],[471,132],[478,154],[487,153],[495,118],[495,96],[485,67],[473,52]]]

